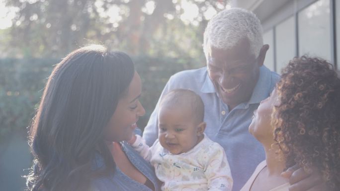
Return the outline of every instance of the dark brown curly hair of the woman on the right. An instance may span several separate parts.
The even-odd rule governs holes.
[[[277,84],[274,139],[286,166],[317,167],[326,183],[340,188],[340,79],[320,58],[294,58]]]

